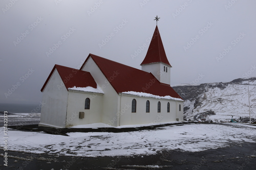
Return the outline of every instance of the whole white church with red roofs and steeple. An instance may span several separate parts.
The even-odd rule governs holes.
[[[39,126],[64,128],[183,121],[171,65],[156,26],[141,70],[89,54],[79,70],[55,65],[41,92]]]

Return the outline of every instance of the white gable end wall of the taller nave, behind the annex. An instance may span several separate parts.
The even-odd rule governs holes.
[[[104,95],[102,96],[101,122],[112,126],[118,126],[119,119],[116,119],[119,114],[118,110],[120,110],[118,94],[91,57],[88,59],[82,70],[90,72],[94,80],[104,91]],[[116,70],[116,72],[118,72],[118,70]],[[118,75],[113,72],[112,78],[114,79],[116,76]]]

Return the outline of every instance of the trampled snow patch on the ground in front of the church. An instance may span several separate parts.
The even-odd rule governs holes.
[[[83,157],[148,155],[161,150],[196,152],[227,147],[233,142],[256,142],[256,126],[184,124],[134,132],[68,135],[8,129],[8,151]]]

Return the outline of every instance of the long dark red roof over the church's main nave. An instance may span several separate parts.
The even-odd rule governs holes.
[[[89,54],[117,93],[136,91],[157,96],[171,96],[182,99],[169,85],[161,84],[152,73],[135,69],[124,64]]]

